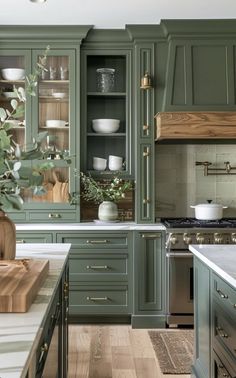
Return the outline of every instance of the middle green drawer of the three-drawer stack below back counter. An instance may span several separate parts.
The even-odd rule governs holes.
[[[70,255],[70,281],[121,281],[128,279],[128,253],[110,251]]]

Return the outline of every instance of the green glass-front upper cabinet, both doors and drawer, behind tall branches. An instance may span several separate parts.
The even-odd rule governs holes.
[[[0,51],[0,107],[11,112],[11,100],[16,98],[14,87],[26,89],[25,76],[34,72],[43,53],[44,49]],[[21,151],[30,149],[39,133],[46,132],[40,145],[41,157],[22,162],[43,176],[45,193],[22,190],[24,211],[13,214],[16,220],[76,219],[76,207],[70,204],[70,195],[76,191],[75,129],[79,119],[79,110],[75,108],[75,50],[50,48],[46,69],[38,79],[36,96],[27,95],[20,116],[10,117],[9,132]],[[13,159],[17,159],[15,151]],[[44,169],[45,166],[51,168]]]

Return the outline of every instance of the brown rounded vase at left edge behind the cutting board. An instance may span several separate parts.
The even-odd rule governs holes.
[[[0,210],[0,259],[14,260],[16,257],[16,227],[4,211]]]

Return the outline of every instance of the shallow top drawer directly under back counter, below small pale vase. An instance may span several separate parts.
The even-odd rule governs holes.
[[[58,243],[71,243],[73,246],[83,249],[97,248],[127,248],[127,234],[119,233],[86,233],[81,234],[58,234]]]

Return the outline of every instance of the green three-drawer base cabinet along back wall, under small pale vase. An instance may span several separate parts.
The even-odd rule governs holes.
[[[130,319],[131,235],[118,231],[57,234],[57,242],[72,245],[69,256],[70,322]]]

